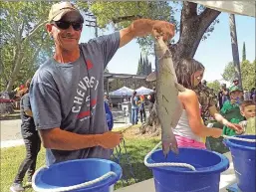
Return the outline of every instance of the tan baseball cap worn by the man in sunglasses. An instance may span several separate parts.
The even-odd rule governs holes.
[[[81,19],[81,22],[84,23],[84,18],[80,11],[70,2],[60,2],[53,4],[49,12],[48,21],[60,21],[62,17],[69,12],[77,13]]]

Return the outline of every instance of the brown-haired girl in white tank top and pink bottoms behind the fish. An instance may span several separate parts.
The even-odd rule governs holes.
[[[204,67],[193,59],[182,60],[176,67],[177,83],[186,90],[178,94],[182,103],[182,114],[176,127],[172,127],[179,147],[206,148],[207,136],[218,138],[221,136],[220,128],[206,127],[200,112],[200,100],[193,91],[201,83]],[[203,85],[203,88],[206,88]]]

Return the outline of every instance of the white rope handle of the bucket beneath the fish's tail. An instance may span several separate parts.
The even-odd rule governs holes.
[[[144,165],[149,167],[149,168],[153,168],[153,167],[167,167],[167,166],[174,166],[174,167],[186,167],[189,168],[193,171],[195,171],[194,166],[187,164],[187,163],[148,163],[147,159],[149,158],[149,156],[160,146],[161,141],[155,145],[155,147],[144,157]]]

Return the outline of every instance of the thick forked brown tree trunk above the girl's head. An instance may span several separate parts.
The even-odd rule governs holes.
[[[180,37],[176,44],[169,46],[174,66],[182,59],[194,57],[204,33],[220,14],[219,11],[206,8],[197,15],[196,9],[197,4],[183,2]]]

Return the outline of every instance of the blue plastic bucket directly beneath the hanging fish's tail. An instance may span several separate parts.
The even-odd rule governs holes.
[[[196,148],[179,148],[179,154],[169,152],[167,158],[162,150],[154,151],[147,163],[187,163],[195,170],[184,167],[153,167],[156,192],[218,192],[220,173],[229,167],[227,157],[217,152]]]

